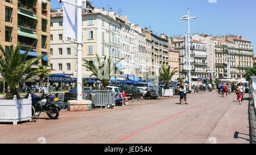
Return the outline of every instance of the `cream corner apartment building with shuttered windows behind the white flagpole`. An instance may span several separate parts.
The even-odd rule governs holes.
[[[113,56],[117,62],[121,58],[121,20],[113,11],[105,11],[92,7],[91,3],[86,1],[82,13],[82,59],[91,61],[97,65],[97,57],[103,60],[104,57]],[[62,11],[52,12],[51,50],[53,51],[51,58],[53,66],[52,73],[68,73],[71,77],[77,76],[77,53],[76,44],[63,36],[63,27],[60,23],[63,21]],[[57,41],[55,41],[57,39]],[[60,53],[62,52],[62,55]],[[122,68],[121,64],[117,68]],[[88,68],[82,66],[82,77],[90,77],[92,72]],[[117,78],[123,78],[122,74],[116,74]]]

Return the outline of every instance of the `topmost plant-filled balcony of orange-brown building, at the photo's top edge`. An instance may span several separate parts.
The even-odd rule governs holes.
[[[18,9],[36,14],[36,4],[34,2],[36,1],[18,1]]]

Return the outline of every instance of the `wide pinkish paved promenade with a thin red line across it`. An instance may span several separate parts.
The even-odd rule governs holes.
[[[245,98],[248,94],[245,95]],[[249,100],[217,92],[130,102],[128,107],[61,111],[59,119],[40,115],[36,123],[0,124],[0,143],[224,143],[249,144]]]

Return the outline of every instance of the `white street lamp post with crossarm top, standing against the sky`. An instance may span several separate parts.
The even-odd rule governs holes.
[[[180,20],[188,20],[188,64],[189,64],[189,73],[188,73],[188,78],[189,78],[189,90],[191,90],[191,64],[190,64],[190,60],[191,60],[191,57],[190,57],[190,47],[191,47],[191,44],[190,44],[190,23],[189,23],[189,20],[190,19],[196,19],[197,16],[189,16],[189,9],[188,9],[188,15],[184,15],[182,16],[182,18]]]

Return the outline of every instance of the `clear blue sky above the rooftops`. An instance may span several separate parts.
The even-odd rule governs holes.
[[[197,16],[190,23],[193,33],[213,36],[237,35],[250,40],[256,54],[256,1],[255,0],[90,0],[94,7],[112,9],[127,15],[131,23],[147,27],[154,34],[184,36],[188,23],[180,20],[183,15]],[[52,9],[60,9],[57,0],[51,1]]]

